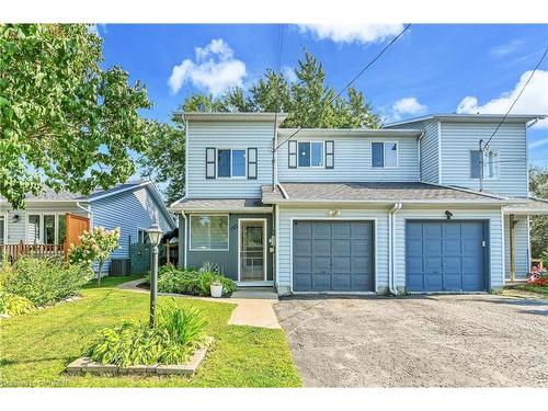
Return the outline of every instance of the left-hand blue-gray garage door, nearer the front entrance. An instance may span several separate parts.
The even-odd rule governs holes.
[[[295,292],[373,292],[373,221],[295,220]]]

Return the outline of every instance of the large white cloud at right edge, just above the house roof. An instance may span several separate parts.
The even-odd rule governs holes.
[[[504,114],[524,87],[532,71],[525,71],[511,91],[480,104],[478,98],[468,95],[457,106],[457,113]],[[548,114],[548,71],[537,70],[511,114]],[[548,128],[548,119],[539,121],[535,127]]]

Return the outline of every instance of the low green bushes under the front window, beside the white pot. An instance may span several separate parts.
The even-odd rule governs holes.
[[[225,277],[213,264],[204,264],[202,269],[176,269],[164,265],[158,271],[158,290],[160,293],[189,294],[209,296],[209,286],[214,282],[222,284],[222,296],[230,296],[236,290],[236,283]]]

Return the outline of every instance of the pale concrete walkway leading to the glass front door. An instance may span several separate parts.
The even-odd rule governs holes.
[[[116,286],[116,288],[125,289],[134,293],[149,294],[146,288],[138,287],[144,283],[144,278],[134,279]],[[281,329],[273,305],[277,302],[277,295],[272,288],[238,288],[230,298],[212,298],[187,296],[174,293],[158,293],[159,296],[176,297],[176,298],[194,298],[212,302],[236,304],[236,308],[228,320],[232,326],[252,326],[270,329]]]

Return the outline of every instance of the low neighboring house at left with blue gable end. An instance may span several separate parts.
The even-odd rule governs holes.
[[[24,210],[12,209],[0,197],[0,244],[62,247],[67,214],[89,218],[90,227],[119,227],[121,247],[113,252],[113,259],[128,259],[129,244],[144,241],[145,231],[152,222],[158,222],[164,232],[175,228],[175,221],[155,184],[136,181],[90,195],[47,190],[42,195],[27,196]],[[105,272],[109,272],[110,263],[109,260]]]

